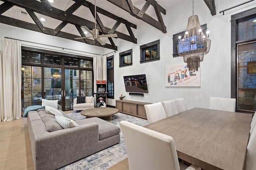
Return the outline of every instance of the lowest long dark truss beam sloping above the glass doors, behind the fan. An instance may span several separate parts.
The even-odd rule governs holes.
[[[42,33],[41,29],[34,23],[29,23],[29,22],[25,22],[25,21],[21,21],[21,20],[16,20],[14,18],[6,17],[6,16],[1,16],[1,23]],[[53,31],[53,29],[50,29],[50,28],[46,28],[46,29],[47,29],[48,32]],[[65,32],[62,32],[62,31],[60,31],[55,36],[84,43],[84,39],[79,39],[79,40],[75,39],[76,37],[78,37],[77,35],[65,33]],[[92,43],[92,39],[85,39],[85,41],[86,41],[87,44]],[[112,45],[110,45],[110,44],[106,44],[106,45],[102,46],[100,43],[96,43],[95,45],[99,46],[99,47],[104,47],[104,48],[108,48],[108,49],[117,50],[117,49],[114,49],[112,47]]]

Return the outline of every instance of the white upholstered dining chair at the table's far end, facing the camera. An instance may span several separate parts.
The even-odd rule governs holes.
[[[236,99],[210,97],[209,109],[236,111]]]

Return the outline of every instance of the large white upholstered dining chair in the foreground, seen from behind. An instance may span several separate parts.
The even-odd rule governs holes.
[[[121,121],[129,170],[185,170],[188,166],[178,161],[172,137]],[[201,170],[190,166],[187,170]]]

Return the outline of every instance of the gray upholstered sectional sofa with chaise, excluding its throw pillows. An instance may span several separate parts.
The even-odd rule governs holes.
[[[35,170],[58,169],[120,142],[120,128],[112,123],[98,117],[75,121],[79,126],[63,129],[45,109],[28,112]]]

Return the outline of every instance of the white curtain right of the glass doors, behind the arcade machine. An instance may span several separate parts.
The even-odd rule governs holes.
[[[102,80],[102,58],[100,55],[93,55],[94,92],[97,90],[96,80]]]

